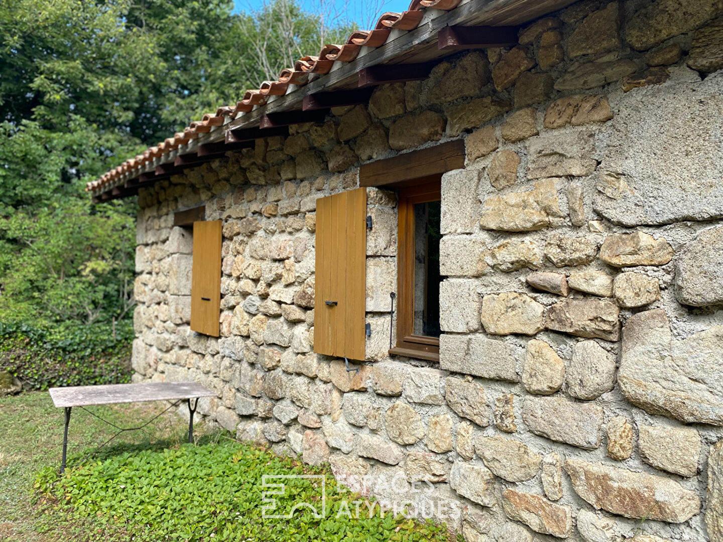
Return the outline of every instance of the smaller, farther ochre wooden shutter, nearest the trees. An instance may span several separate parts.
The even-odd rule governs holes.
[[[221,317],[221,220],[193,223],[191,329],[218,337]]]

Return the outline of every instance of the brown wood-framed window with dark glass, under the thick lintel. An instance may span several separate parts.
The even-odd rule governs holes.
[[[399,190],[397,343],[389,352],[440,358],[440,177]]]

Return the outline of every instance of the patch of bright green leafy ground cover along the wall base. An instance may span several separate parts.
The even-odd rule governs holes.
[[[271,488],[262,486],[262,476],[294,474],[325,475],[326,516],[315,519],[300,507],[290,520],[264,519],[262,507],[268,503],[262,492]],[[288,487],[274,496],[272,513],[291,512],[299,502],[320,504],[318,479],[284,483]],[[444,526],[395,518],[378,505],[369,517],[361,504],[356,517],[353,502],[360,497],[338,486],[328,470],[228,439],[115,455],[69,469],[61,478],[48,467],[38,473],[35,487],[58,503],[46,515],[48,524],[91,520],[110,540],[126,539],[126,531],[139,542],[448,540]]]

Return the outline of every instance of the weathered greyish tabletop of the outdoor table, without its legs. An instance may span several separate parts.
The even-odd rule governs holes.
[[[56,407],[110,405],[215,397],[197,382],[151,382],[150,384],[106,384],[101,386],[51,387],[50,396]]]

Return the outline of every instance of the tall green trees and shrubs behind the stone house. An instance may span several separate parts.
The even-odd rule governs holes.
[[[294,0],[232,7],[0,1],[0,322],[127,320],[135,203],[85,183],[341,35]]]

